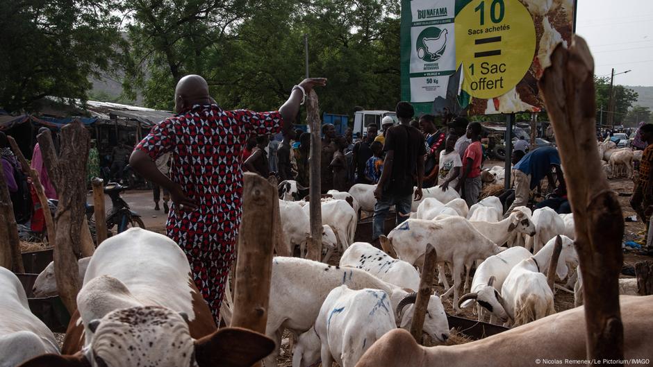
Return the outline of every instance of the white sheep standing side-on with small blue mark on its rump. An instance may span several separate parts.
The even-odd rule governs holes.
[[[423,262],[427,244],[431,244],[436,249],[437,262],[447,263],[452,269],[453,305],[456,312],[460,311],[458,289],[461,286],[461,273],[465,267],[469,276],[475,260],[486,259],[503,250],[477,231],[470,221],[460,216],[450,216],[440,221],[408,219],[388,234],[388,242],[389,246],[395,249],[399,259],[413,265],[418,264],[418,260]],[[443,276],[441,271],[440,275]],[[443,294],[443,298],[449,296],[452,289]]]

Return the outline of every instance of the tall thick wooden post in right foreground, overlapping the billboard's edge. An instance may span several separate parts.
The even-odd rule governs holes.
[[[595,136],[594,61],[574,36],[559,44],[538,82],[556,135],[584,281],[587,359],[624,359],[618,278],[624,221],[601,169]],[[623,366],[617,364],[615,366]]]

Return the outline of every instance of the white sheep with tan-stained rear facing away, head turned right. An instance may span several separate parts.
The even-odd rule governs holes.
[[[556,242],[559,242],[562,250],[558,259],[552,259]],[[554,293],[543,274],[550,261],[557,263],[555,274],[561,279],[568,274],[568,263],[578,264],[574,243],[569,237],[558,236],[549,240],[540,252],[512,268],[501,289],[505,310],[510,318],[506,325],[524,325],[555,313]]]

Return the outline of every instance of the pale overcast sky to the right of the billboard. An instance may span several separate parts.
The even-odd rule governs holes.
[[[577,0],[576,33],[594,56],[595,74],[615,84],[653,86],[653,0]]]

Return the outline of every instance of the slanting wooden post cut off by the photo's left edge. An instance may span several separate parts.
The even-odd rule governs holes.
[[[2,171],[0,169],[0,171]],[[20,239],[18,237],[18,224],[14,216],[14,206],[9,196],[4,171],[0,173],[0,241],[3,243],[0,251],[3,253],[2,266],[11,269],[14,273],[25,273],[23,258],[20,255]]]

